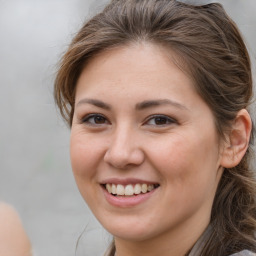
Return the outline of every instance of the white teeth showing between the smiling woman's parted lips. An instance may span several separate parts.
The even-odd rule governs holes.
[[[103,184],[109,194],[114,196],[137,196],[146,194],[159,187],[159,184]]]

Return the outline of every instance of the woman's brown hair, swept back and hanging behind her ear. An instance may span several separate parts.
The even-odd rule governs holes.
[[[220,138],[236,114],[248,108],[252,74],[248,52],[235,23],[220,4],[192,6],[175,0],[113,0],[78,32],[55,81],[55,100],[72,125],[76,83],[96,54],[144,41],[179,56],[179,65],[194,80],[211,108]],[[251,143],[253,134],[251,135]],[[225,169],[213,203],[213,232],[201,255],[256,252],[256,183],[249,169],[250,146],[242,161]],[[109,255],[114,255],[114,245]]]

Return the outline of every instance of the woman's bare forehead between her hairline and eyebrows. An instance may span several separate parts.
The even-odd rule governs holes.
[[[187,84],[194,89],[193,80],[181,68],[178,55],[165,47],[136,43],[103,51],[84,67],[77,83],[80,88],[104,90],[149,89],[160,90],[162,84]],[[86,88],[85,88],[86,85]],[[137,87],[136,87],[137,85]]]

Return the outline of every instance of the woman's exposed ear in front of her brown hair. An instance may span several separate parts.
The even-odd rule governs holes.
[[[225,168],[235,167],[240,163],[249,145],[252,121],[246,109],[242,109],[232,124],[227,141],[224,142],[220,165]]]

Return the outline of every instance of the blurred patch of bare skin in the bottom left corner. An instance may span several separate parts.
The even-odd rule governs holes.
[[[13,207],[0,202],[0,255],[29,256],[30,242]]]

